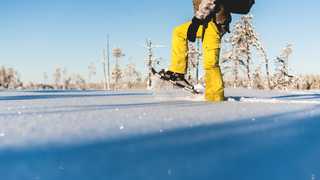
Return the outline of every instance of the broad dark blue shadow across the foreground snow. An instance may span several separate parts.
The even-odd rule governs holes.
[[[2,151],[1,179],[312,179],[320,176],[320,114],[300,119],[300,113]]]

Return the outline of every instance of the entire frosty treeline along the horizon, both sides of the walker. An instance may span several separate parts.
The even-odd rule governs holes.
[[[270,58],[263,47],[252,24],[253,16],[242,16],[232,28],[232,33],[224,38],[220,66],[223,72],[226,87],[244,87],[255,89],[320,89],[320,75],[294,75],[289,67],[289,60],[293,53],[293,45],[287,44],[279,55]],[[149,43],[148,43],[149,44]],[[149,66],[159,65],[153,57],[152,44],[147,46]],[[135,64],[121,67],[119,61],[124,57],[120,48],[113,50],[114,66],[109,72],[106,68],[105,51],[103,53],[104,81],[95,82],[92,79],[97,75],[94,63],[88,66],[87,76],[69,73],[66,68],[56,68],[49,82],[49,75],[43,74],[43,82],[23,84],[19,73],[12,68],[1,67],[0,88],[2,89],[142,89],[150,86],[150,72],[139,72]],[[194,84],[202,83],[200,77],[200,62],[202,60],[201,40],[189,44],[187,79]],[[161,63],[160,63],[161,64]],[[150,68],[149,68],[150,69]],[[108,72],[107,72],[108,70]],[[205,85],[204,85],[205,86]]]

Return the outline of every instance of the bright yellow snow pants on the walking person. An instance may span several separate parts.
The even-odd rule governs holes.
[[[172,37],[171,65],[169,70],[185,74],[188,60],[187,32],[191,22],[176,27]],[[197,37],[202,37],[200,26]],[[204,81],[206,84],[205,99],[211,102],[224,100],[224,84],[219,66],[221,37],[215,23],[210,22],[203,39],[203,68],[205,71]]]

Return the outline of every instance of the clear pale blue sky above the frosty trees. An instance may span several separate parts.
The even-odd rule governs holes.
[[[269,57],[292,43],[291,67],[319,73],[320,1],[256,1],[254,25]],[[191,0],[1,0],[0,65],[17,69],[24,81],[39,82],[56,67],[85,76],[91,62],[100,65],[109,33],[111,47],[126,54],[122,63],[143,69],[145,39],[166,45],[155,53],[169,61],[172,28],[191,18]]]

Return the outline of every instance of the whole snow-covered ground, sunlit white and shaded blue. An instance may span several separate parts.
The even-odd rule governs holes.
[[[226,95],[0,92],[0,178],[320,178],[320,92]]]

